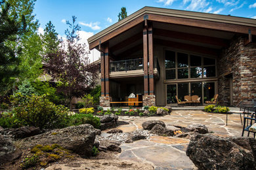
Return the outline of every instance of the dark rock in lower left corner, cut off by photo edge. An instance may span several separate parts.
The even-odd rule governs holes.
[[[0,135],[0,165],[19,158],[21,154],[22,152],[14,146],[10,139]]]

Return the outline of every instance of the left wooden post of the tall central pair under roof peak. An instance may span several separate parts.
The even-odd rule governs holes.
[[[148,95],[148,30],[143,29],[144,95]]]

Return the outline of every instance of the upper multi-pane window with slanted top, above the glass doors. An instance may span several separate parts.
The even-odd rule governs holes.
[[[165,79],[216,77],[216,59],[165,51]]]

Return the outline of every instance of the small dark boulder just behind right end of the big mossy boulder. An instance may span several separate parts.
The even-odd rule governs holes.
[[[100,118],[100,129],[110,129],[117,126],[118,116],[114,114],[106,114]]]

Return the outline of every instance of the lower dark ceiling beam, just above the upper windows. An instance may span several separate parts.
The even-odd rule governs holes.
[[[161,44],[163,46],[169,46],[172,48],[177,48],[181,50],[188,50],[190,52],[197,52],[200,54],[207,54],[210,56],[219,56],[220,52],[219,50],[215,50],[213,48],[207,48],[203,46],[196,46],[192,44],[185,44],[181,42],[174,42],[174,41],[166,41],[166,40],[161,40],[161,39],[154,39],[155,44]]]

